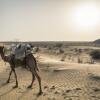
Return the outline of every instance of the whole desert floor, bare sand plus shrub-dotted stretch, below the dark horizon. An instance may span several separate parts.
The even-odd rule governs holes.
[[[33,45],[33,55],[40,68],[43,95],[36,96],[37,80],[31,90],[26,89],[32,77],[24,68],[16,68],[19,88],[12,89],[15,82],[13,75],[11,82],[4,85],[10,67],[0,60],[0,100],[100,99],[100,47],[56,42],[33,43]]]

